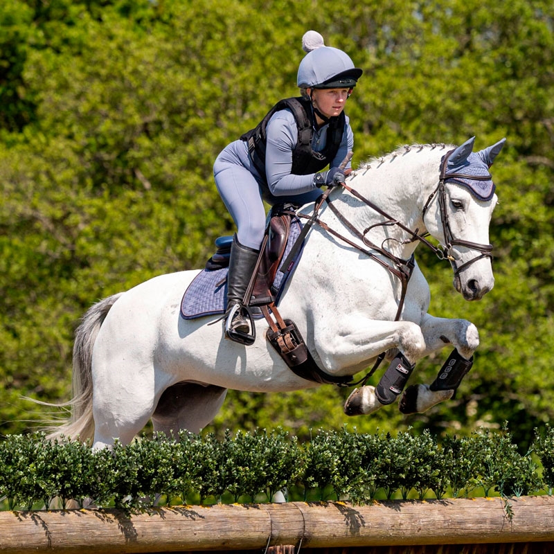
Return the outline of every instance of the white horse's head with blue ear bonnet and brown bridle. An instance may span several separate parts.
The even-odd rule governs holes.
[[[506,139],[480,152],[473,152],[474,141],[445,154],[438,187],[423,214],[427,231],[452,264],[454,287],[466,300],[479,300],[494,286],[489,224],[497,196],[489,168]]]

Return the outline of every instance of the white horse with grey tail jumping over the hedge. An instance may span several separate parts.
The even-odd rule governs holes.
[[[473,144],[406,146],[361,166],[346,188],[332,190],[321,223],[307,235],[280,314],[296,323],[328,375],[354,375],[382,353],[392,360],[381,394],[379,386],[355,389],[346,413],[371,413],[393,402],[413,364],[445,344],[456,349],[436,379],[440,385],[446,376],[446,388],[411,386],[404,412],[452,397],[470,367],[479,346],[476,327],[427,313],[429,286],[415,262],[404,290],[396,273],[409,266],[428,233],[440,243],[438,255],[451,261],[454,287],[465,299],[479,300],[492,289],[488,227],[497,197],[488,168],[503,141],[475,153]],[[313,210],[310,204],[298,214],[309,217]],[[90,308],[75,337],[72,418],[54,436],[93,435],[94,448],[109,447],[114,438],[126,444],[150,419],[154,431],[197,433],[229,388],[271,393],[319,386],[284,363],[265,339],[264,319],[256,321],[251,346],[224,339],[221,324],[208,325],[217,316],[184,319],[181,297],[198,272],[157,276]],[[451,368],[454,377],[447,375]]]

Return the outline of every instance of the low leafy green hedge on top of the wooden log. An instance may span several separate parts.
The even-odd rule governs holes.
[[[282,429],[228,432],[224,440],[181,432],[157,435],[113,451],[93,451],[78,440],[44,434],[11,435],[0,442],[0,497],[8,510],[66,508],[91,499],[98,507],[141,509],[154,500],[185,503],[289,500],[519,497],[554,488],[554,429],[535,429],[522,455],[507,427],[471,436],[427,431],[357,434],[323,431],[303,445]],[[88,501],[88,500],[87,500]]]

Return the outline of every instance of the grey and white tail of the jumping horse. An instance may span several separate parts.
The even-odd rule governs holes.
[[[94,436],[92,417],[92,349],[98,331],[111,307],[123,294],[119,292],[92,305],[82,317],[75,330],[73,344],[73,399],[62,406],[71,406],[71,419],[55,427],[50,427],[48,438],[79,438],[82,441]],[[60,404],[58,404],[60,405]]]

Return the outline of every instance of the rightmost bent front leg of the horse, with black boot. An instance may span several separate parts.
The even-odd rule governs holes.
[[[473,364],[473,353],[479,346],[479,332],[473,323],[465,319],[445,319],[427,314],[421,325],[427,344],[426,355],[452,344],[447,361],[440,368],[430,385],[417,384],[406,388],[400,400],[402,413],[422,413],[449,400]]]

